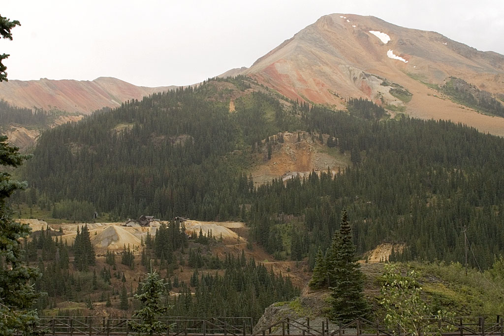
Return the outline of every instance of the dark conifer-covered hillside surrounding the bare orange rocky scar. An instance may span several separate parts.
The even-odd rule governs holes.
[[[277,258],[311,265],[345,207],[360,253],[404,242],[393,258],[462,260],[463,226],[482,267],[504,250],[504,140],[448,121],[390,120],[362,100],[349,114],[251,91],[242,79],[209,81],[47,131],[24,167],[32,190],[16,201],[51,211],[66,202],[59,215],[69,219],[90,205],[117,220],[241,219]],[[353,165],[254,187],[249,164],[285,130],[329,139]]]

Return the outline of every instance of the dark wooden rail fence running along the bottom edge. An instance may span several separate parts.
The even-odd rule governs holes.
[[[169,327],[163,336],[415,336],[415,330],[386,326],[357,318],[349,323],[331,323],[309,317],[285,318],[267,326],[254,327],[249,317],[160,317]],[[132,318],[41,316],[37,329],[58,336],[129,336]],[[504,336],[504,319],[498,315],[450,319],[424,318],[421,336]],[[15,335],[17,335],[15,333]]]

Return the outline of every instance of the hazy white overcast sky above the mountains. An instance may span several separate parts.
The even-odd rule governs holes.
[[[3,0],[8,78],[186,85],[250,66],[332,13],[372,15],[504,54],[502,0]]]

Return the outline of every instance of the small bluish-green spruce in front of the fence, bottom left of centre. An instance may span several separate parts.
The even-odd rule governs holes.
[[[142,284],[142,294],[135,294],[135,298],[142,302],[144,308],[136,310],[133,314],[133,318],[140,319],[139,322],[130,322],[133,331],[144,335],[166,331],[168,325],[158,320],[158,317],[164,315],[170,308],[163,303],[164,290],[163,281],[158,279],[156,272],[151,271]]]

